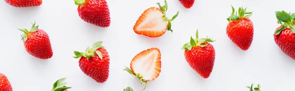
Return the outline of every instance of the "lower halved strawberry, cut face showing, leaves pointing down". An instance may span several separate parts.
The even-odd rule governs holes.
[[[125,67],[123,70],[137,77],[147,87],[147,82],[156,79],[161,72],[160,50],[158,48],[149,48],[138,53],[132,59],[130,68]]]

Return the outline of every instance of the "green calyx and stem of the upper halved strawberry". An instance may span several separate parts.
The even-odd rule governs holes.
[[[164,6],[161,6],[160,2],[157,3],[159,5],[159,8],[161,9],[161,11],[163,12],[163,18],[168,21],[168,31],[171,31],[173,32],[173,30],[171,29],[171,22],[178,16],[179,14],[179,11],[177,11],[177,13],[172,17],[172,19],[168,19],[166,17],[166,11],[168,9],[168,4],[167,4],[167,1],[165,0],[165,5]]]

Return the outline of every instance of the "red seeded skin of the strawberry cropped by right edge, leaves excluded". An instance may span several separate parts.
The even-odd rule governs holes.
[[[277,29],[281,28],[278,27]],[[275,43],[281,48],[281,50],[295,59],[295,34],[291,31],[290,28],[286,28],[281,31],[280,34],[274,35]]]

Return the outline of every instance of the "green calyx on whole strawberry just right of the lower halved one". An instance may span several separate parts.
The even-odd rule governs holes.
[[[190,42],[184,44],[181,49],[183,49],[183,50],[191,50],[191,48],[194,47],[194,46],[205,47],[205,46],[207,46],[207,44],[205,44],[207,42],[215,42],[215,40],[212,40],[211,38],[208,38],[208,37],[199,39],[199,30],[197,30],[196,39],[194,39],[191,36]]]

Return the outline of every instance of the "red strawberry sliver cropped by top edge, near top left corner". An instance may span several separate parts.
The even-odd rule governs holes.
[[[15,7],[30,7],[39,6],[42,4],[42,0],[5,0],[9,5]]]

